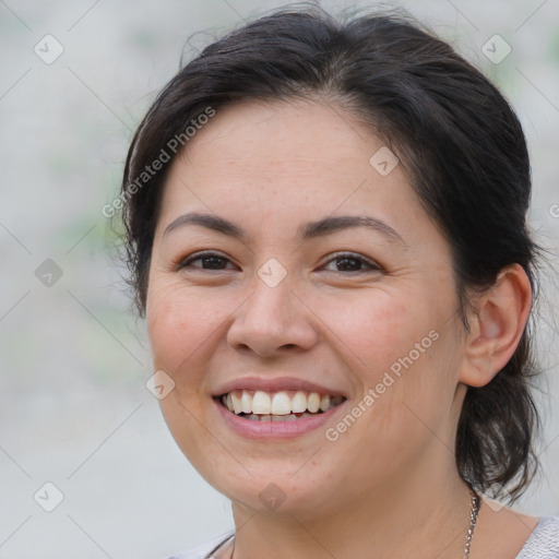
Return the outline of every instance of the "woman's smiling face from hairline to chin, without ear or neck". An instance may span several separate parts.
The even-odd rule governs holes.
[[[173,163],[154,370],[175,383],[160,404],[177,443],[234,501],[328,513],[455,468],[456,306],[402,164],[340,107],[228,106]]]

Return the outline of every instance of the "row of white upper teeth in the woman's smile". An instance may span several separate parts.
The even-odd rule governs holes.
[[[288,415],[302,414],[304,412],[317,413],[319,409],[326,412],[340,404],[342,396],[320,395],[318,392],[295,393],[262,392],[260,390],[235,390],[222,396],[222,402],[229,412],[236,414],[260,414],[260,415]]]

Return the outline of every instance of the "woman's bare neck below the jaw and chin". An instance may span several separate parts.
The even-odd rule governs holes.
[[[234,559],[462,559],[469,489],[453,464],[438,462],[447,465],[441,472],[428,467],[433,463],[382,488],[364,487],[360,499],[344,500],[342,487],[331,507],[264,514],[234,503]]]

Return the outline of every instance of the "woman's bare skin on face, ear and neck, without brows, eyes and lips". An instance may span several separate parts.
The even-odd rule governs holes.
[[[512,356],[530,284],[520,266],[506,270],[475,301],[466,333],[450,246],[403,166],[382,176],[370,165],[383,145],[332,103],[251,102],[219,109],[173,163],[150,269],[148,335],[155,370],[175,382],[160,402],[173,436],[233,501],[236,559],[462,557],[469,495],[453,454],[460,411],[466,385],[486,384]],[[164,235],[187,212],[234,222],[246,238],[192,224]],[[403,242],[366,227],[298,236],[307,222],[340,215],[381,219]],[[225,267],[178,267],[203,250]],[[338,271],[338,252],[362,258],[362,269],[352,261],[358,271]],[[258,275],[270,259],[287,274],[275,287]],[[437,340],[329,441],[325,429],[429,332]],[[324,427],[250,440],[212,397],[249,374],[307,379],[347,400]],[[285,498],[275,510],[259,498],[269,484]],[[536,521],[481,507],[471,557],[514,557]],[[490,540],[497,526],[506,540]]]

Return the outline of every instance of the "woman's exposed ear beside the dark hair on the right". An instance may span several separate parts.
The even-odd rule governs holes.
[[[507,266],[480,296],[469,321],[459,380],[485,386],[509,362],[532,308],[530,280],[520,264]]]

